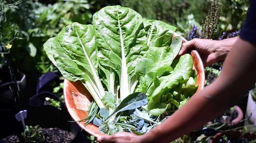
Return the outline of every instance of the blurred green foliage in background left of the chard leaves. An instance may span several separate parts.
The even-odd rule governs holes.
[[[46,40],[73,22],[90,24],[93,13],[116,4],[110,0],[1,0],[0,69],[10,64],[24,72],[29,96],[34,95],[40,75],[58,72],[43,49]]]

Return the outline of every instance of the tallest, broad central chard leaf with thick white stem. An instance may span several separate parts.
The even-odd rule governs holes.
[[[142,17],[129,8],[106,6],[93,16],[93,24],[99,63],[118,74],[123,100],[133,92],[135,65],[147,50]]]

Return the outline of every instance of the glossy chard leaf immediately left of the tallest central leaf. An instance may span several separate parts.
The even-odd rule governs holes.
[[[72,60],[84,68],[84,73],[89,77],[91,76],[90,79],[86,80],[95,82],[101,96],[105,95],[97,72],[98,61],[92,25],[73,23],[66,26],[57,37],[63,50]]]

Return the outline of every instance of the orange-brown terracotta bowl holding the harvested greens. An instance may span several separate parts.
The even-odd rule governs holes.
[[[174,36],[179,36],[174,34]],[[183,38],[182,43],[187,40]],[[205,85],[205,72],[202,60],[197,51],[192,50],[191,56],[193,58],[193,69],[196,71],[198,85],[197,91],[201,90]],[[88,107],[92,101],[92,96],[80,81],[72,82],[67,79],[64,80],[64,98],[67,105],[68,112],[75,121],[82,120],[87,116]],[[84,122],[77,122],[79,126],[95,137],[104,135],[99,132],[99,128],[93,124],[84,126]]]

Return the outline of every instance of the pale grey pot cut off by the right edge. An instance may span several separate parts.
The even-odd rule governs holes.
[[[255,132],[256,131],[256,104],[252,99],[252,95],[249,93],[247,108],[245,113],[245,119],[251,115],[251,118],[244,121],[244,125],[255,125],[255,126],[247,126],[248,131]]]

